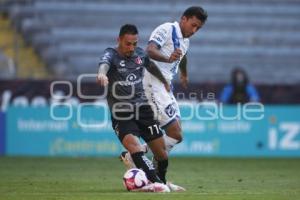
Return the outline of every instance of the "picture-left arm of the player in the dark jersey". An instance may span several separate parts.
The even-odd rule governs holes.
[[[108,84],[108,77],[106,74],[110,68],[111,60],[112,60],[112,52],[108,48],[105,50],[103,56],[100,59],[98,74],[96,78],[96,82],[101,86],[106,86]]]

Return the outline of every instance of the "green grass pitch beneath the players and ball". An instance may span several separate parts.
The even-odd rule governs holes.
[[[1,200],[299,200],[300,159],[170,159],[184,193],[133,193],[117,158],[0,157]]]

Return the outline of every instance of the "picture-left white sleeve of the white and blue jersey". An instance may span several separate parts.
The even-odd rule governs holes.
[[[158,26],[151,34],[149,42],[154,42],[159,48],[161,48],[167,41],[170,34],[171,26],[168,24],[162,24]]]

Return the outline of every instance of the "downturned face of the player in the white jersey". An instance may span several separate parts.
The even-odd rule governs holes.
[[[202,25],[203,23],[196,16],[189,17],[189,18],[183,16],[181,18],[181,24],[180,24],[183,37],[184,38],[191,37],[202,27]]]

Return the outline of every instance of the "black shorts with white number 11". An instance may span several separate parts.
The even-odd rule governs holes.
[[[146,143],[163,136],[150,105],[143,105],[134,110],[114,113],[115,117],[112,114],[112,127],[121,142],[127,134],[141,137]]]

